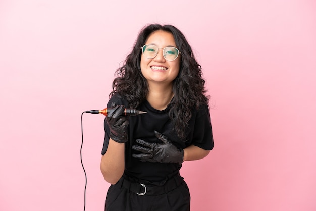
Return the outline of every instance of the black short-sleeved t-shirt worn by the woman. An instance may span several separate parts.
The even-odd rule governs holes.
[[[111,107],[112,102],[115,102],[116,105],[123,104],[126,108],[129,108],[128,101],[119,94],[111,97],[108,107]],[[212,126],[207,104],[200,107],[199,110],[193,109],[191,111],[192,117],[189,121],[189,129],[186,131],[186,141],[181,140],[177,136],[176,131],[172,130],[174,126],[169,118],[169,106],[165,110],[160,111],[151,107],[149,102],[145,100],[136,109],[147,113],[129,117],[129,141],[125,143],[125,174],[149,182],[158,182],[165,180],[168,175],[173,175],[180,170],[181,164],[141,162],[139,159],[132,157],[132,154],[136,153],[136,151],[132,150],[132,145],[136,144],[136,139],[161,143],[154,135],[154,131],[167,136],[178,148],[184,149],[193,144],[205,150],[213,149]],[[110,129],[107,121],[104,121],[104,130],[103,155],[107,151],[110,139]]]

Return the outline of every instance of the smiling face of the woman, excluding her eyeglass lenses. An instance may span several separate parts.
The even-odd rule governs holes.
[[[154,31],[150,34],[145,44],[153,44],[158,48],[168,46],[177,47],[175,39],[170,32]],[[140,59],[140,69],[143,76],[150,83],[170,85],[177,77],[180,69],[180,57],[173,61],[167,61],[163,55],[163,49],[159,49],[157,56],[147,59],[143,54]]]

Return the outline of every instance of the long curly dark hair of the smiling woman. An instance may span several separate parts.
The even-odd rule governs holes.
[[[206,96],[205,80],[202,78],[201,66],[195,60],[191,46],[183,33],[172,25],[151,24],[145,26],[134,43],[132,52],[126,57],[122,67],[117,69],[117,78],[114,79],[110,97],[115,93],[124,96],[131,107],[137,108],[146,99],[149,87],[141,73],[141,47],[152,32],[162,30],[170,32],[181,51],[181,62],[178,76],[173,82],[174,97],[170,103],[169,117],[175,126],[177,135],[183,139],[191,118],[191,110],[208,105],[209,96]]]

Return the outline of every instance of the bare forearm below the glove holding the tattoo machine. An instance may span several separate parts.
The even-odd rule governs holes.
[[[124,145],[124,143],[115,142],[110,138],[107,152],[101,157],[100,169],[104,180],[113,185],[124,173]]]

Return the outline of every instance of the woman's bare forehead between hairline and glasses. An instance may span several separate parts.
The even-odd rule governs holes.
[[[175,39],[174,39],[172,33],[168,32],[168,31],[162,31],[162,30],[152,32],[148,36],[148,38],[146,40],[146,44],[176,46],[176,42],[175,42]]]

